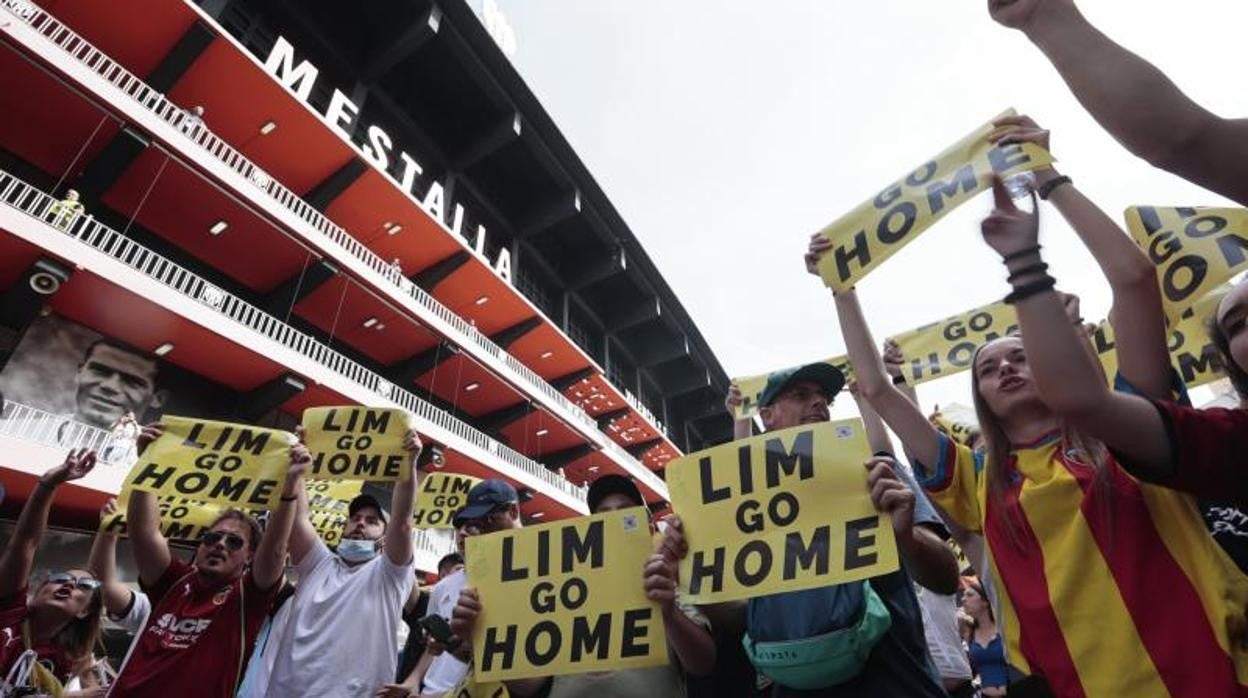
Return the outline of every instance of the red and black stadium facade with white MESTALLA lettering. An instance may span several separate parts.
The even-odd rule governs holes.
[[[730,437],[716,358],[463,0],[0,0],[0,41],[5,518],[127,410],[403,407],[534,521],[607,472],[659,509]]]

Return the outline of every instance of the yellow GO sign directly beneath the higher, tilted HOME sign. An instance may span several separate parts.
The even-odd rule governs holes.
[[[990,303],[894,337],[912,386],[960,373],[971,367],[980,346],[1018,330],[1018,316],[1005,303]]]

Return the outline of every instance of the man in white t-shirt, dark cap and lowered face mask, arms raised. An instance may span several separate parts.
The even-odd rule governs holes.
[[[414,582],[412,506],[421,455],[414,431],[404,448],[411,476],[394,483],[391,519],[373,496],[356,497],[337,552],[312,528],[307,493],[300,491],[290,543],[298,587],[290,616],[271,629],[275,661],[265,696],[371,697],[393,679],[403,602]]]

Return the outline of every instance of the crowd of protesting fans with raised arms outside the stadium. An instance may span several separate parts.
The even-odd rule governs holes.
[[[1070,0],[988,7],[1045,52],[1132,152],[1248,205],[1248,120],[1192,102]],[[991,139],[1050,147],[1048,131],[1026,116],[998,121]],[[829,421],[831,402],[850,392],[875,452],[864,463],[866,487],[891,522],[900,567],[865,582],[695,606],[678,591],[690,541],[675,512],[654,524],[655,551],[638,571],[661,612],[670,661],[510,681],[512,696],[1248,696],[1248,561],[1228,554],[1202,516],[1244,503],[1238,447],[1248,442],[1248,411],[1188,403],[1167,351],[1156,268],[1071,176],[1035,172],[1031,207],[1020,209],[1000,180],[992,189],[982,236],[1008,272],[1005,301],[1020,332],[973,356],[973,438],[952,438],[925,413],[901,372],[905,357],[895,343],[876,345],[852,290],[832,298],[852,380],[827,363],[778,371],[759,401],[771,432]],[[1077,298],[1048,273],[1042,202],[1109,282],[1116,376],[1096,361]],[[807,270],[830,247],[814,236]],[[1211,325],[1241,398],[1246,328],[1241,282]],[[740,400],[734,388],[728,408]],[[738,420],[735,436],[754,428]],[[160,430],[127,438],[141,452]],[[82,568],[30,581],[57,488],[96,461],[69,453],[39,479],[0,554],[0,694],[406,698],[459,686],[487,602],[472,586],[463,542],[520,528],[519,497],[502,479],[475,484],[454,516],[459,552],[422,588],[412,549],[418,435],[404,447],[413,476],[396,483],[388,508],[356,497],[334,549],[308,519],[302,443],[291,448],[263,528],[225,511],[190,561],[161,536],[155,497],[130,492],[140,591],[117,579],[110,533],[97,534]],[[589,487],[593,513],[634,506],[645,501],[629,478],[603,476]],[[95,652],[105,617],[134,633],[119,671]]]

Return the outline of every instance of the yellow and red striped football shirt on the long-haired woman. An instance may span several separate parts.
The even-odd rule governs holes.
[[[1192,496],[1112,456],[1098,484],[1058,435],[1013,451],[1001,502],[980,455],[945,436],[920,467],[932,502],[987,541],[1010,662],[1056,696],[1248,697],[1248,577]]]

